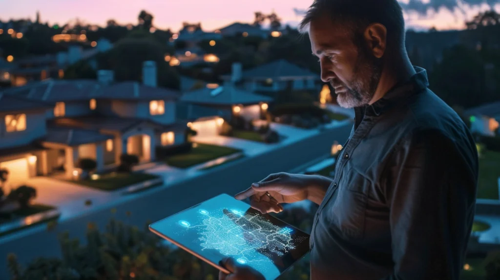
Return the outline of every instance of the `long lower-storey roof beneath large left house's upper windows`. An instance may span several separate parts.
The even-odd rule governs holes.
[[[87,130],[108,130],[125,132],[134,127],[144,124],[150,125],[158,130],[186,128],[186,123],[177,122],[174,124],[160,124],[149,119],[140,118],[120,118],[110,116],[85,116],[76,118],[57,118],[54,124],[59,127],[83,128]]]

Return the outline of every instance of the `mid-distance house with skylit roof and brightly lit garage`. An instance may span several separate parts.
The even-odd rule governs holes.
[[[239,64],[233,64],[232,81],[222,85],[207,84],[201,89],[185,92],[180,97],[184,119],[197,136],[217,135],[223,120],[241,116],[247,121],[259,119],[272,98],[237,87],[233,81],[240,75]]]

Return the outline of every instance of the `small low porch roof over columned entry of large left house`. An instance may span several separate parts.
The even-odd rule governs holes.
[[[105,141],[107,139],[113,139],[113,136],[101,134],[98,131],[89,129],[49,126],[47,128],[47,136],[43,141],[76,146]]]

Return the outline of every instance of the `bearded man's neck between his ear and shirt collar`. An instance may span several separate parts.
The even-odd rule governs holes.
[[[368,103],[369,105],[382,98],[385,93],[392,89],[397,83],[407,80],[416,73],[406,52],[395,57],[395,59],[387,61],[386,65],[383,67],[378,86],[373,98]]]

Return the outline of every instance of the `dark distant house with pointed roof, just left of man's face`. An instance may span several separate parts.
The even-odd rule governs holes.
[[[240,64],[236,64],[241,68]],[[222,75],[222,80],[227,81],[231,75]],[[284,59],[259,65],[252,69],[242,71],[236,77],[236,82],[242,83],[243,88],[268,95],[283,90],[314,90],[319,92],[322,83],[319,75],[310,70],[300,68]]]

